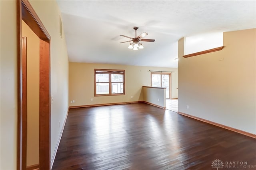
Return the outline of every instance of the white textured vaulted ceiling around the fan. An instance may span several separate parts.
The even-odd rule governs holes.
[[[256,1],[58,0],[70,62],[178,67],[177,41],[200,33],[256,28]],[[147,32],[144,49],[119,35]]]

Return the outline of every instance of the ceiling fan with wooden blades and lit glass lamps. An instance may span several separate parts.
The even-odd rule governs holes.
[[[124,42],[131,42],[130,45],[128,46],[128,48],[133,49],[133,50],[138,50],[138,48],[139,49],[144,48],[142,46],[142,43],[139,43],[140,41],[146,41],[146,42],[154,42],[155,41],[153,39],[144,39],[143,37],[148,35],[148,33],[146,33],[146,32],[142,32],[140,35],[137,36],[138,28],[139,27],[136,27],[136,26],[133,27],[133,29],[135,30],[135,38],[131,38],[131,37],[128,37],[128,36],[120,35],[120,36],[132,39],[130,41],[124,41]],[[120,43],[124,43],[124,42],[120,42]]]

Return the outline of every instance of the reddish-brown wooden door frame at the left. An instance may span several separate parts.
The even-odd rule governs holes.
[[[22,20],[40,38],[39,54],[39,169],[50,170],[50,44],[51,37],[28,0],[17,0],[18,133],[17,169],[26,169],[26,68],[22,60]]]

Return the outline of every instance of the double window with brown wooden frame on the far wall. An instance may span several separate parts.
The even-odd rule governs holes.
[[[124,95],[124,70],[94,69],[94,96]]]

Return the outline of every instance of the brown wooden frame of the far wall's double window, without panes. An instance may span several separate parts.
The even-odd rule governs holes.
[[[108,74],[108,82],[96,82],[96,74]],[[122,82],[111,82],[111,74],[122,74]],[[96,94],[96,84],[97,83],[108,83],[108,94]],[[112,94],[112,83],[123,83],[123,92],[122,93],[113,93]],[[125,95],[125,70],[113,70],[113,69],[96,69],[94,68],[94,96],[119,96]]]

